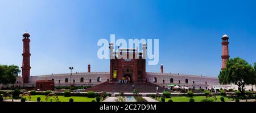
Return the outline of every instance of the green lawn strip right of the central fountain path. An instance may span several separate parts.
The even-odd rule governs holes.
[[[221,102],[220,98],[222,97],[221,95],[216,95],[217,100],[216,102]],[[205,99],[205,96],[194,96],[192,97],[195,99],[195,102],[201,102],[202,99]],[[224,97],[225,101],[232,101],[232,98]],[[166,98],[166,102],[168,102],[169,99],[172,99],[174,102],[189,102],[190,97],[185,97],[185,96],[180,96],[180,97],[171,97],[171,98]],[[213,99],[213,97],[210,97],[210,99]]]

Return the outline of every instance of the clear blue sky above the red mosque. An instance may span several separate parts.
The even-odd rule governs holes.
[[[31,75],[109,71],[97,41],[158,38],[159,64],[147,72],[216,76],[221,37],[231,58],[256,62],[256,1],[0,1],[0,64],[22,66],[22,34],[31,34]]]

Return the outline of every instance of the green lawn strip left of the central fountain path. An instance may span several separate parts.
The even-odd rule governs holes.
[[[46,95],[31,95],[31,101],[36,101],[36,99],[40,97],[42,102],[46,102]],[[49,97],[47,102],[50,102],[52,99],[52,102],[56,102],[54,96]],[[73,98],[74,102],[92,102],[92,100],[96,101],[96,98],[88,98],[88,97],[64,97],[64,95],[60,95],[59,101],[60,102],[69,102],[70,98]],[[26,100],[28,101],[28,97],[26,97]]]

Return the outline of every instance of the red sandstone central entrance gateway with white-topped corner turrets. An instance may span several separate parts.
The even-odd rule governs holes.
[[[110,49],[110,81],[146,83],[146,44],[142,45],[143,53],[137,49]],[[130,58],[130,57],[131,58]]]

